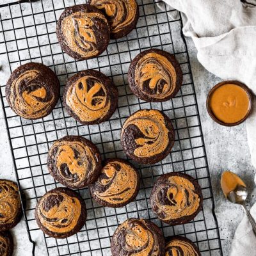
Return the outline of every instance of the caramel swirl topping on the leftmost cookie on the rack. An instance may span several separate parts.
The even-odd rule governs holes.
[[[15,79],[10,87],[10,104],[24,118],[41,118],[52,108],[54,95],[38,81],[39,70],[28,70]]]

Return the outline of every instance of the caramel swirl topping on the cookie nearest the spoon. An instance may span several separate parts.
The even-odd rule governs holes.
[[[200,207],[200,196],[193,183],[178,175],[158,180],[150,201],[157,216],[166,222],[191,216]]]

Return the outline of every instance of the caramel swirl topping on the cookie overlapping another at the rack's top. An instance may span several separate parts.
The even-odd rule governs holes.
[[[102,13],[75,12],[65,17],[61,22],[61,31],[65,38],[65,44],[81,56],[91,58],[99,54],[100,42],[99,23],[108,26],[108,21]]]

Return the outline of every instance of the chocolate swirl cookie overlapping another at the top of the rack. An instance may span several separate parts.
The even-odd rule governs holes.
[[[110,38],[108,20],[89,4],[67,8],[58,20],[56,33],[63,51],[77,60],[99,56],[107,49]]]

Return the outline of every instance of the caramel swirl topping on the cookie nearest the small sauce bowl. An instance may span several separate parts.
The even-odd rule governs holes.
[[[145,95],[164,99],[174,92],[177,74],[165,56],[148,52],[136,64],[134,80]]]

